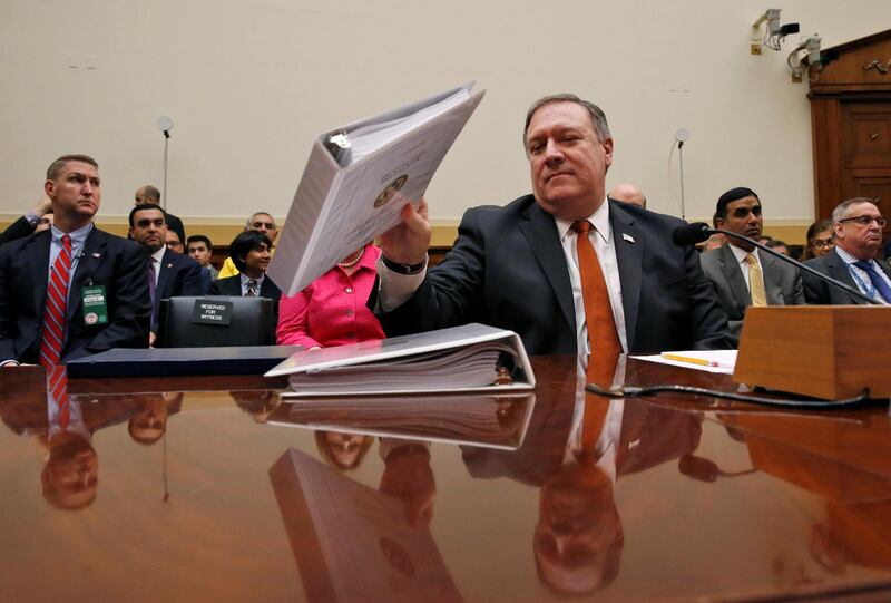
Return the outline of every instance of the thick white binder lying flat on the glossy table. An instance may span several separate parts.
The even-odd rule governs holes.
[[[290,375],[282,396],[382,396],[487,391],[535,387],[519,335],[486,324],[304,350],[266,377]]]

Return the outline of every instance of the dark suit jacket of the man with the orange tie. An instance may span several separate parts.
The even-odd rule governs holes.
[[[684,222],[609,204],[629,351],[731,348],[727,317],[696,251],[672,243]],[[369,307],[375,303],[372,293]],[[532,354],[577,353],[572,289],[554,217],[532,195],[468,210],[443,262],[408,302],[379,318],[388,337],[482,322],[519,333]]]

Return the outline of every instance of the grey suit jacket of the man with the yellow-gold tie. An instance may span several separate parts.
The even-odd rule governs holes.
[[[764,292],[767,294],[767,304],[803,304],[804,289],[802,288],[799,269],[762,251],[758,251],[758,259],[761,260],[764,275]],[[699,256],[699,261],[702,262],[703,272],[715,286],[717,302],[727,313],[731,334],[738,340],[745,310],[752,305],[752,295],[745,285],[740,262],[736,261],[733,250],[727,244],[703,253]]]

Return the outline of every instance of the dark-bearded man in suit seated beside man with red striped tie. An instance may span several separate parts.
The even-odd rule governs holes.
[[[167,222],[164,215],[164,210],[157,205],[135,205],[130,210],[129,234],[148,252],[146,274],[149,290],[146,291],[146,298],[151,301],[149,344],[153,346],[158,332],[160,300],[204,293],[198,262],[165,246]]]

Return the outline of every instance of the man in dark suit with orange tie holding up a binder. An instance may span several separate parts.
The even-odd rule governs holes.
[[[588,353],[591,339],[627,352],[732,346],[695,250],[672,243],[683,222],[607,200],[613,138],[598,107],[546,97],[529,110],[525,143],[533,194],[469,210],[441,264],[425,270],[423,202],[382,236],[369,304],[388,335],[479,321],[518,332],[533,354]]]

